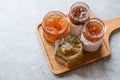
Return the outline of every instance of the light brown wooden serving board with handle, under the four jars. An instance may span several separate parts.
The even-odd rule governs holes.
[[[91,13],[91,17],[95,17],[95,15],[93,13]],[[114,31],[117,28],[120,28],[120,17],[113,19],[113,20],[103,20],[103,21],[105,23],[105,26],[107,27],[107,32],[102,39],[101,48],[99,49],[99,51],[96,51],[94,53],[85,53],[84,52],[84,57],[83,57],[82,63],[81,64],[76,63],[76,65],[71,69],[62,66],[55,61],[54,46],[49,45],[47,43],[47,41],[44,39],[41,24],[39,24],[37,26],[36,31],[38,33],[41,45],[43,47],[44,54],[47,58],[50,69],[54,74],[61,74],[61,73],[70,71],[74,68],[86,65],[88,63],[94,62],[96,60],[102,59],[102,58],[110,55],[109,36],[112,31]]]

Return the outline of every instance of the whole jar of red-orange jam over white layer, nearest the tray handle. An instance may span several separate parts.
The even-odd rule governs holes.
[[[83,49],[87,52],[98,50],[101,46],[101,39],[104,36],[105,31],[106,27],[102,20],[98,18],[91,18],[88,20],[85,23],[81,34]]]

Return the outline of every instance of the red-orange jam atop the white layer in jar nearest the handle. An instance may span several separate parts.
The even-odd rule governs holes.
[[[93,18],[91,20],[99,19]],[[100,24],[97,21],[88,21],[84,26],[83,35],[84,38],[90,42],[99,41],[104,35],[104,24]]]

